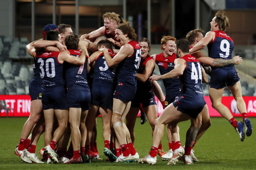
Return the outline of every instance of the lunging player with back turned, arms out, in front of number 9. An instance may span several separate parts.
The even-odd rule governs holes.
[[[182,147],[176,149],[177,151],[175,151],[174,155],[169,160],[168,165],[175,164],[184,153],[187,155],[186,157],[190,156],[193,142],[201,126],[202,110],[206,104],[203,98],[202,82],[207,80],[207,76],[204,71],[202,72],[200,62],[196,57],[188,54],[190,46],[188,40],[178,40],[176,45],[176,54],[181,58],[175,59],[174,69],[161,76],[153,75],[149,80],[153,81],[180,77],[182,93],[178,96],[178,99],[169,104],[161,113],[160,117],[156,119],[152,148],[148,156],[138,160],[141,163],[156,163],[157,147],[163,137],[164,125],[170,123],[177,124],[180,121],[188,119],[191,121],[191,126],[188,128],[186,135],[185,151]]]

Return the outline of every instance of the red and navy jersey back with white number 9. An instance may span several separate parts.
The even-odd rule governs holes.
[[[207,45],[209,57],[213,59],[231,59],[234,42],[224,31],[214,31],[215,38]]]

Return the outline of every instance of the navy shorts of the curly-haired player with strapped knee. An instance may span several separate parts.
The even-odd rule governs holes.
[[[128,103],[129,101],[132,101],[132,99],[135,97],[137,89],[136,87],[137,83],[132,84],[117,82],[116,90],[114,92],[114,98]]]

